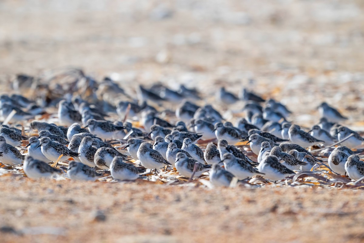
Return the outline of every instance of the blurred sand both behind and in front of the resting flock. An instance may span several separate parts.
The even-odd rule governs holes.
[[[244,85],[287,104],[301,125],[318,121],[323,100],[352,128],[364,125],[361,0],[2,0],[0,23],[3,83],[77,66],[131,91],[162,81],[213,97],[218,86]],[[1,242],[364,239],[361,191],[0,182],[0,227],[23,232],[1,228]],[[94,220],[97,210],[106,221]]]

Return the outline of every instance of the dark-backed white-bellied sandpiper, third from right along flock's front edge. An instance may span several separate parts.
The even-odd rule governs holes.
[[[278,158],[273,155],[267,156],[257,168],[259,172],[264,173],[264,178],[272,181],[282,180],[286,176],[296,174],[278,162]]]

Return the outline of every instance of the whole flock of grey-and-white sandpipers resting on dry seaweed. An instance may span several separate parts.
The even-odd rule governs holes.
[[[17,79],[31,82],[24,75]],[[102,84],[129,100],[118,101],[113,108],[104,100],[90,103],[77,94],[57,102],[1,95],[2,170],[22,166],[31,179],[62,176],[91,181],[106,176],[147,179],[173,170],[189,180],[209,175],[213,186],[225,187],[234,178],[249,183],[252,177],[264,177],[274,183],[302,172],[363,179],[364,162],[356,153],[364,139],[340,125],[348,118],[325,102],[317,107],[320,122],[306,132],[289,122],[293,114],[282,103],[246,89],[235,95],[222,87],[216,93],[216,104],[244,111],[245,117],[233,125],[213,107],[215,103],[196,105],[202,103],[201,94],[183,85],[179,90],[161,84],[139,86],[138,100],[132,100],[133,95],[110,78]],[[175,110],[163,109],[164,104]],[[44,114],[56,106],[56,124],[47,123]],[[319,159],[313,149],[325,155]]]

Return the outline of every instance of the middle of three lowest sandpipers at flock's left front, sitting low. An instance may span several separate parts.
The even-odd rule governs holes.
[[[83,181],[95,181],[102,176],[96,173],[93,168],[76,161],[71,161],[68,164],[67,175],[71,180]]]

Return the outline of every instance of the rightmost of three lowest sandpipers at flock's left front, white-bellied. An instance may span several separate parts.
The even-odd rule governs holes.
[[[121,181],[136,180],[140,173],[145,172],[145,169],[136,168],[132,164],[125,163],[122,157],[116,156],[110,164],[110,172],[112,178]]]

